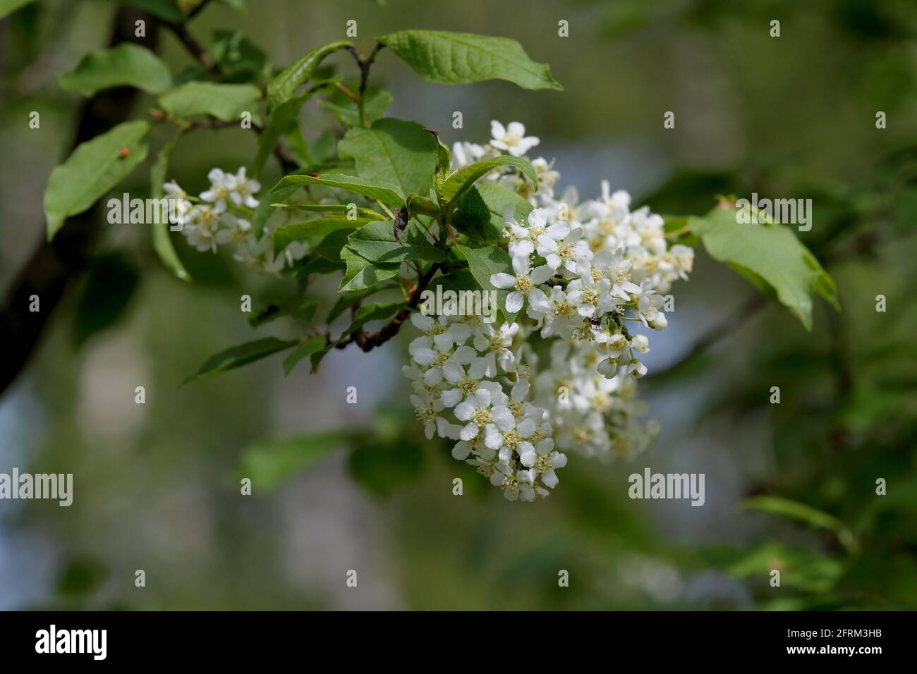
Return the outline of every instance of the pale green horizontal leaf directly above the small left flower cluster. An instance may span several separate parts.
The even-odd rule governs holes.
[[[251,114],[260,124],[255,110],[261,92],[251,84],[189,82],[160,96],[160,107],[177,117],[210,115],[224,122],[240,122],[242,113]]]

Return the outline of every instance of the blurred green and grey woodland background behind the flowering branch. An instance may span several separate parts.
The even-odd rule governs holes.
[[[721,193],[812,198],[813,227],[800,236],[844,311],[819,301],[807,333],[699,250],[641,382],[663,428],[654,447],[630,464],[571,452],[550,498],[505,503],[423,439],[400,373],[406,334],[369,354],[335,352],[314,377],[300,367],[284,378],[274,358],[179,389],[209,355],[253,337],[242,293],[265,304],[289,286],[178,242],[195,279],[182,283],[151,252],[149,232],[105,227],[90,271],[0,399],[0,471],[75,475],[70,508],[0,502],[0,608],[917,608],[912,0],[248,4],[246,16],[209,7],[191,30],[204,44],[216,29],[243,30],[276,66],[342,39],[351,18],[366,49],[398,28],[519,40],[564,92],[425,83],[385,51],[373,84],[392,92],[389,115],[448,143],[486,141],[491,119],[524,122],[542,139],[538,154],[557,160],[559,187],[583,196],[608,179],[664,214],[701,214]],[[42,0],[0,27],[4,289],[44,236],[41,196],[72,139],[79,101],[54,75],[104,46],[114,5]],[[775,18],[779,39],[768,34]],[[560,19],[569,38],[558,37]],[[193,66],[164,31],[159,53],[172,72]],[[346,54],[332,61],[352,76]],[[154,103],[144,97],[135,116]],[[28,128],[32,110],[40,129]],[[675,129],[662,126],[668,110]],[[301,122],[309,139],[336,128],[315,101]],[[154,149],[166,138],[159,130]],[[170,175],[197,192],[207,170],[235,171],[255,149],[250,132],[198,131]],[[146,193],[148,175],[116,192]],[[262,182],[279,177],[269,164]],[[296,328],[280,321],[257,335]],[[345,403],[351,385],[358,404]],[[779,405],[768,403],[772,386]],[[268,460],[262,440],[339,428],[361,429],[358,441],[327,436],[326,451],[275,489],[256,480],[252,496],[239,495],[240,463]],[[628,474],[647,466],[704,473],[706,503],[629,500]],[[879,478],[887,495],[876,494]],[[754,495],[837,522],[737,507]],[[769,586],[770,569],[781,569],[781,587]]]

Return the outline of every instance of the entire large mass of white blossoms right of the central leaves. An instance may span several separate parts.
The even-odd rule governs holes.
[[[526,137],[518,122],[503,127],[494,121],[490,143],[455,144],[453,168],[503,153],[521,157],[538,142]],[[669,247],[662,217],[647,207],[631,211],[627,193],[612,193],[603,181],[598,199],[580,203],[572,188],[556,198],[560,176],[553,163],[537,158],[532,165],[537,186],[512,170],[484,178],[533,206],[523,220],[512,207],[504,214],[512,273],[491,277],[492,285],[506,292],[506,314],[516,315],[516,322],[485,333],[470,329],[469,318],[450,324],[417,317],[414,325],[426,336],[412,343],[417,366],[405,368],[414,379],[412,402],[427,434],[458,433],[456,459],[477,466],[508,498],[518,492],[527,500],[547,495],[531,478],[540,476],[548,487],[557,484],[554,469],[567,459],[553,450],[555,442],[590,457],[629,459],[657,435],[655,421],[642,421],[646,405],[636,396],[635,380],[646,374],[640,357],[649,351],[649,338],[637,330],[668,325],[664,293],[677,279],[687,280],[693,264],[693,250]],[[472,335],[474,348],[464,346]],[[481,379],[495,370],[493,359],[484,364],[494,337],[505,342],[495,359],[508,375],[504,383]],[[551,339],[550,362],[540,371],[529,344],[538,337]],[[528,403],[532,381],[536,398]],[[506,386],[512,387],[509,395]],[[467,422],[460,431],[444,416],[453,407]],[[550,472],[544,470],[548,466]]]

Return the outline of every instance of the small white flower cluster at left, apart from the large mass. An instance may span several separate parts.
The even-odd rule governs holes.
[[[271,232],[265,228],[259,238],[252,231],[250,218],[258,207],[255,194],[261,185],[246,175],[244,166],[235,174],[212,169],[207,180],[210,188],[196,198],[175,181],[162,186],[165,196],[177,204],[171,211],[171,222],[182,226],[182,235],[194,249],[216,252],[217,246],[229,245],[235,260],[271,273],[279,273],[284,265],[292,266],[303,257],[303,245],[294,241],[275,259]]]

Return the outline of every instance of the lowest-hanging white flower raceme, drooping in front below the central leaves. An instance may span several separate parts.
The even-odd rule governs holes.
[[[411,321],[424,334],[411,342],[404,373],[426,436],[456,440],[452,456],[511,501],[547,496],[567,457],[554,450],[547,410],[529,401],[525,347],[514,350],[518,324],[494,328],[474,315],[414,314]]]

